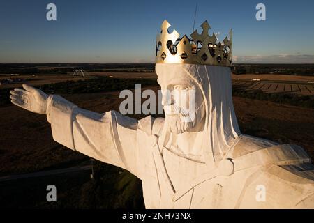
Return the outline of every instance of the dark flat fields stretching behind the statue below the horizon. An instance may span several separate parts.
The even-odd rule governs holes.
[[[287,77],[282,77],[282,75],[260,76],[232,75],[232,80],[234,85],[239,84],[238,82],[252,82],[255,87],[264,82],[269,84],[287,82]],[[252,81],[255,77],[261,80],[259,82]],[[112,109],[119,111],[119,104],[123,100],[119,98],[119,92],[122,89],[134,91],[135,83],[144,84],[142,91],[159,89],[154,72],[90,72],[90,75],[86,77],[73,77],[71,74],[20,75],[19,78],[27,80],[0,86],[1,92],[4,93],[4,95],[0,95],[0,98],[6,97],[5,94],[9,89],[20,87],[22,83],[28,83],[38,86],[44,91],[45,89],[47,91],[56,89],[55,93],[78,106],[100,113]],[[301,83],[297,84],[301,88],[302,83],[312,79],[313,77],[290,77],[288,81]],[[103,89],[98,91],[93,88],[93,86],[102,86],[103,83],[107,83]],[[123,84],[120,86],[121,83]],[[246,86],[246,89],[248,87],[249,85]],[[264,88],[259,87],[259,89]],[[289,91],[289,93],[294,92]],[[234,96],[233,100],[242,133],[283,144],[298,144],[308,152],[313,160],[313,108],[238,96]],[[140,180],[128,171],[96,160],[91,161],[91,158],[86,155],[71,151],[54,142],[50,124],[47,123],[45,115],[33,114],[9,102],[4,102],[0,106],[0,117],[1,206],[6,208],[13,206],[20,208],[144,207]],[[133,117],[143,118],[144,115]],[[77,170],[49,176],[43,174],[38,177],[7,180],[16,178],[16,175],[20,176],[20,174],[63,170],[71,167]],[[80,169],[79,167],[84,168]],[[90,178],[91,167],[94,171],[93,179]],[[60,202],[47,203],[45,201],[45,185],[48,184],[57,185]]]

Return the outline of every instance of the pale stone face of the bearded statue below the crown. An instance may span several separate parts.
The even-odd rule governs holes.
[[[163,93],[165,124],[174,134],[202,130],[205,116],[204,97],[197,83],[186,72],[156,69]]]

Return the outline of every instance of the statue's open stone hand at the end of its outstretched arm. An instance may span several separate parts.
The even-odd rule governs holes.
[[[48,95],[27,84],[23,88],[10,91],[11,102],[31,112],[46,114]]]

